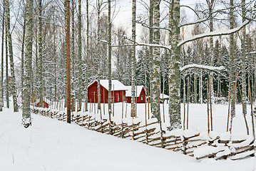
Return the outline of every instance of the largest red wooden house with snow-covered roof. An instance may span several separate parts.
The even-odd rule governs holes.
[[[101,103],[108,103],[108,80],[100,80]],[[111,81],[112,103],[126,101],[126,86],[120,81]],[[88,86],[88,103],[98,103],[98,81],[93,81]]]

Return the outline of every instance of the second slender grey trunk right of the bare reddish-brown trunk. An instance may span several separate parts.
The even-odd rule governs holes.
[[[82,14],[81,0],[78,0],[78,111],[82,107],[83,78],[82,78]]]

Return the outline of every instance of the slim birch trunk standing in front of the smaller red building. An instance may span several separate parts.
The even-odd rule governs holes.
[[[136,0],[133,0],[133,9],[132,9],[132,40],[133,47],[131,52],[131,108],[130,115],[135,116],[135,65],[136,65],[136,48],[135,48],[135,40],[136,40]]]

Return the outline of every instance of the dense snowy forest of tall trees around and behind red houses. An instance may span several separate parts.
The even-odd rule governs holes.
[[[182,0],[133,0],[129,28],[115,21],[123,5],[110,0],[1,1],[0,103],[5,100],[9,108],[12,96],[17,111],[17,97],[22,97],[26,125],[30,104],[66,99],[67,45],[71,110],[76,102],[78,110],[87,103],[89,83],[109,80],[111,90],[113,79],[132,86],[131,113],[136,85],[148,90],[158,120],[157,97],[169,95],[171,129],[181,126],[180,103],[206,103],[210,94],[212,103],[232,102],[235,116],[235,103],[256,100],[255,0],[186,5]]]

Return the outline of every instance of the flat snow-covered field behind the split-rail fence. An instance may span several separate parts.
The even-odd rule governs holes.
[[[123,105],[123,107],[122,107]],[[88,105],[90,106],[90,104]],[[96,113],[97,113],[97,105],[96,106]],[[163,115],[163,106],[165,110],[165,115]],[[114,105],[114,115],[112,120],[116,121],[116,123],[121,123],[122,118],[122,108],[123,108],[123,118],[130,117],[130,103],[127,104],[127,113],[126,113],[126,103],[115,103]],[[145,106],[145,103],[137,104],[137,115],[138,118],[143,122],[145,120],[145,108],[146,108],[146,115],[148,116],[148,104]],[[181,118],[183,124],[183,115],[184,115],[184,106],[183,104],[180,105],[181,108]],[[189,109],[188,109],[189,108]],[[209,107],[210,108],[210,107]],[[101,104],[101,109],[103,110],[103,104]],[[90,108],[88,108],[90,110]],[[113,110],[113,105],[112,105]],[[94,113],[94,103],[91,105],[91,111]],[[196,128],[201,133],[207,133],[208,130],[208,118],[207,118],[207,104],[193,104],[190,103],[189,106],[185,105],[185,117],[189,118],[189,128]],[[218,105],[213,104],[213,130],[218,133],[224,133],[227,130],[227,111],[228,105]],[[101,112],[103,118],[108,118],[108,104],[105,104],[105,115],[104,112]],[[168,115],[168,104],[165,103],[160,104],[160,113],[163,122],[163,116],[165,116],[165,123],[164,125],[170,126],[169,115]],[[250,105],[247,105],[247,123],[248,127],[250,128],[250,133],[252,133],[252,118],[251,118],[251,109]],[[151,117],[151,113],[150,113]],[[187,120],[185,120],[185,123]],[[245,138],[247,135],[247,130],[245,127],[245,119],[242,115],[242,105],[236,105],[236,117],[233,119],[232,124],[232,133],[235,136],[242,136],[241,138]]]

